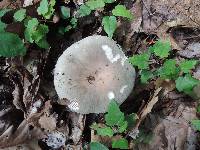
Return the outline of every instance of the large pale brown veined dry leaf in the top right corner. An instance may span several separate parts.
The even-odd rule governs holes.
[[[174,26],[199,27],[199,0],[142,0],[143,30],[166,36]]]

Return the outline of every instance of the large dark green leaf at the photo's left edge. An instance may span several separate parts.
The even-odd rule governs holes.
[[[14,57],[26,53],[24,43],[18,35],[13,33],[2,32],[0,34],[0,45],[0,56],[3,57]]]

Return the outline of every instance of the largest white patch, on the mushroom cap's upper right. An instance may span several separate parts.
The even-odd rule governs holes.
[[[120,59],[120,55],[117,54],[116,56],[113,56],[112,49],[108,45],[102,45],[102,49],[106,54],[106,57],[110,60],[111,63],[114,63]]]

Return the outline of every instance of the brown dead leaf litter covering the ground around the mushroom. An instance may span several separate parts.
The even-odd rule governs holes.
[[[3,0],[0,8],[16,9],[22,8],[22,5],[33,8],[37,3]],[[74,1],[76,5],[82,3]],[[151,40],[170,38],[173,48],[170,57],[199,59],[198,0],[141,0],[125,1],[124,4],[133,12],[135,19],[128,22],[120,18],[114,38],[125,47],[127,55],[144,52],[151,45],[147,44]],[[112,138],[98,136],[89,129],[91,122],[102,122],[102,115],[85,116],[68,112],[56,102],[58,97],[52,83],[55,60],[65,48],[83,37],[102,33],[99,16],[82,20],[80,29],[72,31],[68,37],[55,39],[48,35],[53,43],[48,52],[38,52],[37,48],[27,45],[25,58],[0,59],[0,148],[82,149],[90,140],[111,145]],[[10,28],[11,32],[15,32],[12,26]],[[151,70],[154,67],[150,64]],[[192,73],[199,79],[199,67]],[[199,87],[194,91],[199,94]],[[133,99],[137,99],[134,104]],[[152,80],[142,86],[136,83],[135,93],[121,106],[125,113],[137,112],[138,116],[136,125],[126,136],[137,139],[142,133],[141,128],[154,135],[148,144],[129,143],[130,149],[198,149],[198,133],[190,124],[191,119],[197,119],[196,106],[197,101],[175,90],[174,82]],[[121,135],[115,138],[118,140]],[[33,141],[30,142],[30,139]]]

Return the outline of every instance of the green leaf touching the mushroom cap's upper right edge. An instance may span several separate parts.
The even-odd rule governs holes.
[[[134,55],[129,58],[129,62],[133,64],[134,66],[137,66],[139,69],[148,69],[149,57],[150,55],[148,53]]]

